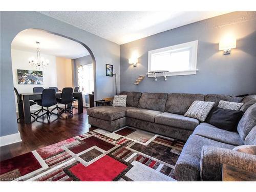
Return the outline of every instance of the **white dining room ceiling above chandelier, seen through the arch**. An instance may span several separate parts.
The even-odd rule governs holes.
[[[44,54],[69,59],[89,55],[87,49],[78,42],[39,29],[26,29],[18,33],[11,48],[36,53],[36,41],[40,42],[39,49]]]

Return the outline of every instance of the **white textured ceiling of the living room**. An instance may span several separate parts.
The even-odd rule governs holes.
[[[228,12],[40,11],[119,45]]]

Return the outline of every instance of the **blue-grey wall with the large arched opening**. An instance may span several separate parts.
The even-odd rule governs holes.
[[[11,43],[20,32],[29,28],[43,29],[76,39],[89,47],[96,65],[96,99],[114,95],[114,78],[105,76],[105,63],[114,66],[120,77],[120,46],[109,40],[78,29],[38,12],[2,11],[1,16],[1,132],[0,136],[18,132],[11,65]],[[118,79],[120,90],[120,79]]]

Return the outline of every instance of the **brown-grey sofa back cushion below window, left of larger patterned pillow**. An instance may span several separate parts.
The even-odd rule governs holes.
[[[170,93],[168,94],[165,112],[184,115],[194,101],[204,101],[203,94]]]

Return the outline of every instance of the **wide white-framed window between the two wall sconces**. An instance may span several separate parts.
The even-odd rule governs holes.
[[[197,45],[196,40],[148,51],[148,72],[169,71],[166,76],[196,74]],[[153,74],[148,74],[148,77],[153,77]]]

